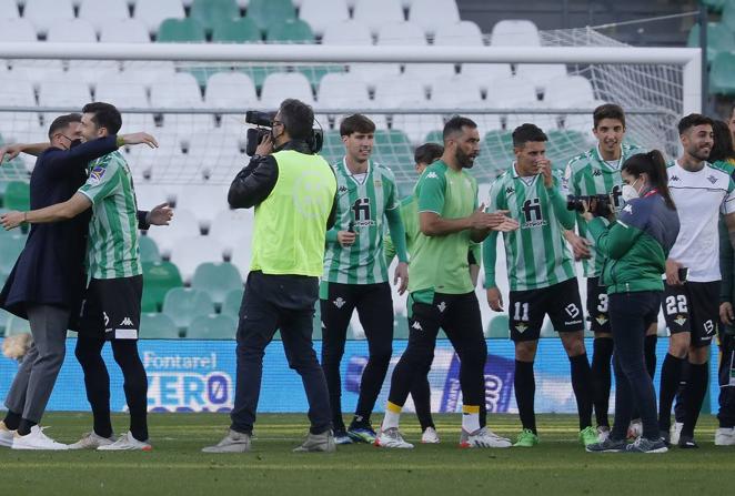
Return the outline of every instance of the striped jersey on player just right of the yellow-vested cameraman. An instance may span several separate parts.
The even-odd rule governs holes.
[[[385,212],[401,205],[395,176],[390,169],[373,161],[369,161],[362,181],[352,175],[344,159],[332,168],[338,195],[333,231],[348,231],[352,223],[358,239],[348,247],[336,241],[326,243],[322,281],[341,284],[387,282],[383,230]]]

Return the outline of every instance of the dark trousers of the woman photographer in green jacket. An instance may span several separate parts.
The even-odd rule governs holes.
[[[612,437],[625,439],[633,409],[637,407],[643,422],[643,437],[657,439],[656,393],[646,370],[644,341],[647,322],[658,313],[661,293],[614,293],[608,296],[608,305],[615,343],[613,367],[616,382]]]

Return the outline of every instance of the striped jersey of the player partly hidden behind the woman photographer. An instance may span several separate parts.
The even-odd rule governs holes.
[[[622,206],[621,188],[623,180],[621,178],[621,166],[631,155],[643,152],[645,152],[645,150],[638,146],[623,144],[621,159],[606,162],[600,154],[598,146],[595,145],[592,150],[570,160],[564,174],[563,192],[565,194],[577,196],[612,194],[615,202],[615,211],[618,211]],[[587,241],[594,245],[595,240],[592,237],[592,234],[587,232],[586,227],[587,223],[581,215],[577,215],[577,229],[580,235],[586,237]],[[601,255],[596,249],[592,250],[592,257],[582,261],[584,276],[598,276],[603,261],[604,256]]]

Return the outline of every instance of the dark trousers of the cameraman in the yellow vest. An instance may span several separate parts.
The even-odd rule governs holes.
[[[238,326],[238,373],[231,428],[252,433],[263,376],[265,346],[281,330],[289,366],[301,375],[309,401],[311,433],[332,428],[324,373],[311,341],[319,279],[300,275],[248,275]]]

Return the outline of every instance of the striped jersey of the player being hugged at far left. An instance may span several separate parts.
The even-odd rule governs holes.
[[[114,151],[89,163],[79,192],[92,202],[87,241],[87,270],[93,279],[132,277],[143,273],[138,245],[138,205],[130,168]]]

